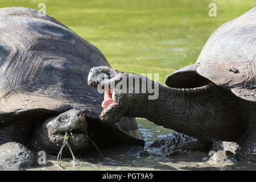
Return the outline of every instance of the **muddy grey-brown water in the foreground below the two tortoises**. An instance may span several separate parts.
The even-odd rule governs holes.
[[[94,154],[89,158],[77,158],[79,166],[73,163],[72,158],[61,160],[59,167],[55,156],[47,156],[46,165],[38,165],[30,170],[256,170],[254,164],[246,162],[209,163],[209,156],[203,152],[194,152],[186,156],[170,158],[164,156],[157,148],[147,147],[151,142],[158,139],[160,135],[169,134],[174,131],[156,126],[146,119],[138,119],[139,130],[146,142],[144,150],[151,152],[151,156],[139,156],[136,148],[110,148],[102,151],[104,157]]]

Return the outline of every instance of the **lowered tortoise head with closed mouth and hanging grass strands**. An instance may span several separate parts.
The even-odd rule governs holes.
[[[47,119],[38,130],[36,130],[36,141],[50,153],[60,151],[65,138],[71,146],[72,151],[77,153],[89,144],[86,137],[88,123],[82,110],[68,110],[57,117]],[[67,138],[68,136],[68,138]],[[63,154],[70,153],[65,147]]]

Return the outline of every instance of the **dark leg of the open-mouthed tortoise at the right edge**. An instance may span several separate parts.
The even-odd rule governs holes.
[[[256,117],[251,121],[251,129],[249,133],[239,142],[240,148],[236,150],[240,160],[247,160],[256,163]]]

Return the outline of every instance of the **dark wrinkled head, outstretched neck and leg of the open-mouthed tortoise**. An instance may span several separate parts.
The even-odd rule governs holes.
[[[136,79],[141,81],[130,88],[117,86],[121,81]],[[201,80],[201,85],[197,81],[195,88],[169,88],[136,73],[124,73],[110,67],[94,67],[88,75],[88,85],[104,89],[106,98],[112,100],[102,103],[105,109],[100,118],[103,122],[115,123],[122,116],[147,118],[156,125],[200,140],[238,142],[240,157],[255,162],[256,105],[209,80]],[[147,88],[142,92],[143,85],[158,87],[159,97],[149,100],[152,93]],[[111,94],[106,94],[109,90]]]

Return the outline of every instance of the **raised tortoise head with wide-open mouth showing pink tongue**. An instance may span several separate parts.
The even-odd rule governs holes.
[[[158,82],[137,73],[121,72],[110,67],[94,67],[88,75],[88,85],[96,87],[99,93],[104,93],[101,121],[113,124],[119,122],[122,116],[134,117],[134,106],[158,97]]]

